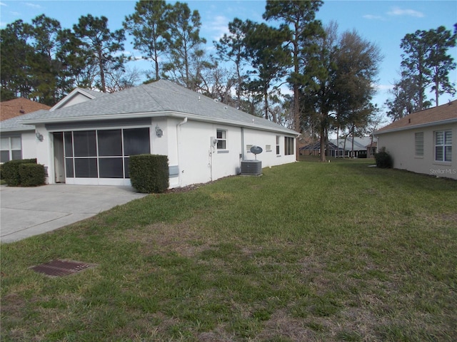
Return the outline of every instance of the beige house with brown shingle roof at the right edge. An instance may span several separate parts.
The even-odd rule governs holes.
[[[393,167],[457,180],[457,100],[411,113],[375,135]]]

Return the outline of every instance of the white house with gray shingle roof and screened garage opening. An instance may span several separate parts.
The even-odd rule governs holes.
[[[141,153],[169,157],[170,187],[236,175],[241,160],[262,167],[296,161],[297,132],[169,81],[86,92],[94,98],[76,103],[82,92],[11,123],[34,127],[36,158],[51,184],[130,185],[129,156]],[[253,145],[263,152],[253,155]]]

